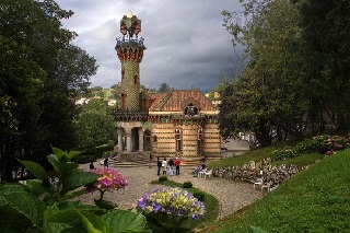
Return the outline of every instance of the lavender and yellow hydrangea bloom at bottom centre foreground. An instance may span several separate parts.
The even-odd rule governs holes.
[[[172,232],[179,232],[187,219],[199,220],[206,214],[203,203],[178,187],[154,189],[138,200],[138,207],[158,226]]]

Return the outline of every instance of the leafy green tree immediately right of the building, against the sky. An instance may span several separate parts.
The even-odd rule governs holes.
[[[299,11],[287,0],[244,1],[243,5],[245,24],[235,18],[237,14],[223,12],[234,45],[245,46],[249,61],[243,74],[223,92],[232,96],[222,96],[220,115],[231,117],[220,117],[220,128],[228,137],[253,131],[260,144],[267,145],[275,136],[284,140],[303,132],[308,102],[300,69]],[[232,101],[234,108],[229,107]],[[226,120],[233,120],[231,128]]]

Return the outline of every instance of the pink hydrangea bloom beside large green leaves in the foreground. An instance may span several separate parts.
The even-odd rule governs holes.
[[[125,177],[110,167],[104,168],[94,168],[90,171],[91,173],[95,173],[101,175],[96,182],[91,183],[86,186],[86,190],[93,193],[95,190],[100,191],[100,200],[103,199],[103,195],[105,191],[114,191],[115,189],[125,188],[128,185]]]

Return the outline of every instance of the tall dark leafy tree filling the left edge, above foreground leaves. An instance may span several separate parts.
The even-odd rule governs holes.
[[[49,144],[69,149],[74,141],[72,100],[97,67],[70,45],[75,33],[61,28],[60,21],[71,15],[52,0],[1,0],[0,95],[16,103],[11,114],[19,121],[18,133],[0,140],[5,180],[11,179],[14,158],[42,161]],[[2,137],[9,132],[0,131]]]

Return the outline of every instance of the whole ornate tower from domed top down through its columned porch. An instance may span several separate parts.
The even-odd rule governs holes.
[[[140,92],[140,62],[143,57],[141,20],[131,11],[120,21],[122,38],[117,38],[118,58],[121,62],[121,106],[114,113],[118,133],[118,150],[143,151],[143,125],[148,119],[148,98]]]

